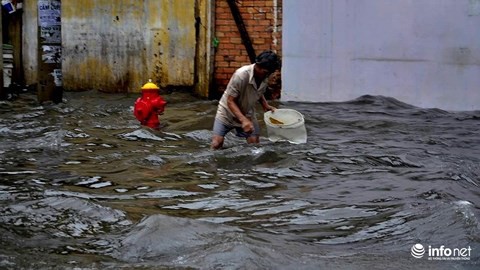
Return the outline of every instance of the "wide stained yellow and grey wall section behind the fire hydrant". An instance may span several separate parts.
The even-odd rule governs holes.
[[[198,1],[62,0],[64,88],[193,87]]]

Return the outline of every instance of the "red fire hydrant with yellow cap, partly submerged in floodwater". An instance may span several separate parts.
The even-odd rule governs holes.
[[[148,80],[142,87],[142,96],[137,98],[133,108],[133,114],[143,126],[159,129],[158,115],[165,110],[167,102],[160,96],[157,85]]]

